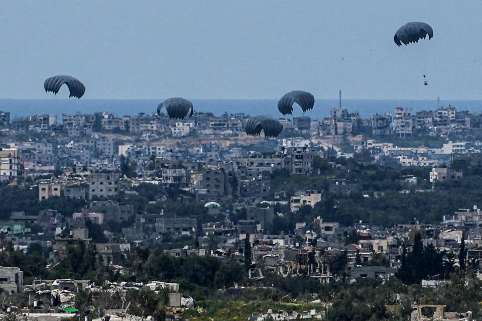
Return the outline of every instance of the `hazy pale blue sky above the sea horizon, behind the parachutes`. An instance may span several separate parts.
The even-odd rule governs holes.
[[[482,99],[480,13],[448,0],[3,1],[0,98],[54,98],[44,80],[68,74],[82,99]],[[399,48],[411,21],[434,37]]]

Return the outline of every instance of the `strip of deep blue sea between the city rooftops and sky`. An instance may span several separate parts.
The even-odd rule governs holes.
[[[211,112],[216,116],[223,114],[245,113],[249,115],[268,114],[282,117],[278,112],[275,99],[190,99],[195,111]],[[0,99],[0,111],[10,112],[11,119],[39,114],[56,115],[61,122],[62,114],[89,114],[107,112],[116,116],[137,115],[139,113],[153,114],[160,100],[157,99]],[[394,114],[396,107],[412,109],[412,111],[435,111],[439,106],[449,105],[458,111],[469,111],[473,114],[482,113],[482,100],[357,100],[344,99],[342,105],[349,113],[359,113],[362,118],[370,118],[375,114]],[[313,110],[305,113],[312,119],[322,120],[330,115],[332,108],[338,108],[336,99],[317,99]],[[293,116],[302,116],[299,106],[294,106]]]

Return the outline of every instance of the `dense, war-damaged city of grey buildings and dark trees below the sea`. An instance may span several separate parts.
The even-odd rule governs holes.
[[[248,119],[1,113],[2,318],[482,312],[481,115]]]

